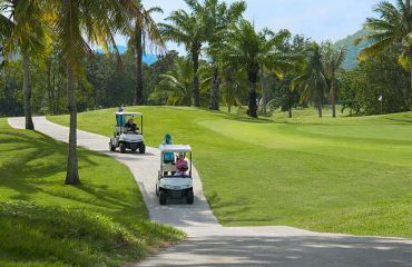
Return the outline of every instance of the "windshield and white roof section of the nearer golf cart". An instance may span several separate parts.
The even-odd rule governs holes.
[[[160,171],[166,177],[192,177],[192,148],[188,145],[160,145]],[[173,161],[166,161],[165,155],[173,155]],[[179,158],[183,156],[183,158]],[[187,162],[187,160],[189,162]],[[179,169],[179,161],[187,165],[184,170]],[[185,161],[185,162],[184,162]]]

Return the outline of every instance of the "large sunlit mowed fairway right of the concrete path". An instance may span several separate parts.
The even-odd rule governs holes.
[[[412,237],[412,113],[253,120],[193,108],[126,108],[145,115],[145,138],[190,144],[206,197],[226,226],[288,225]],[[116,109],[79,115],[109,136]],[[310,116],[308,113],[312,113]],[[68,117],[50,117],[67,125]]]

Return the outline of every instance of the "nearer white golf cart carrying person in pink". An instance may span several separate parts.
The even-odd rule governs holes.
[[[167,198],[182,199],[192,205],[194,201],[192,178],[192,148],[187,145],[160,145],[160,170],[156,182],[159,204],[166,205]],[[165,154],[173,154],[174,162],[165,162]],[[188,156],[189,162],[185,159]],[[185,161],[185,162],[184,162]],[[183,164],[180,164],[183,162]]]

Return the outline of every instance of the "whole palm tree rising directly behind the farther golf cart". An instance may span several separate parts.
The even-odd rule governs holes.
[[[163,41],[160,30],[157,23],[151,18],[154,12],[163,13],[163,10],[158,7],[153,7],[150,9],[145,9],[140,0],[135,0],[138,10],[136,17],[133,20],[133,26],[129,32],[129,47],[136,57],[136,93],[135,93],[135,105],[144,105],[144,92],[143,92],[143,55],[146,50],[150,51],[158,49],[163,50],[165,43]]]

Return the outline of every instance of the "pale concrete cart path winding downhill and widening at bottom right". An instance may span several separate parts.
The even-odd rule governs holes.
[[[68,128],[36,117],[38,131],[68,140]],[[10,118],[23,128],[22,118]],[[109,155],[127,165],[143,192],[150,218],[180,228],[187,240],[130,266],[411,266],[412,240],[318,234],[292,227],[222,227],[209,209],[195,170],[195,205],[161,207],[155,195],[159,152],[147,155],[108,151],[108,137],[78,131],[79,146]]]

